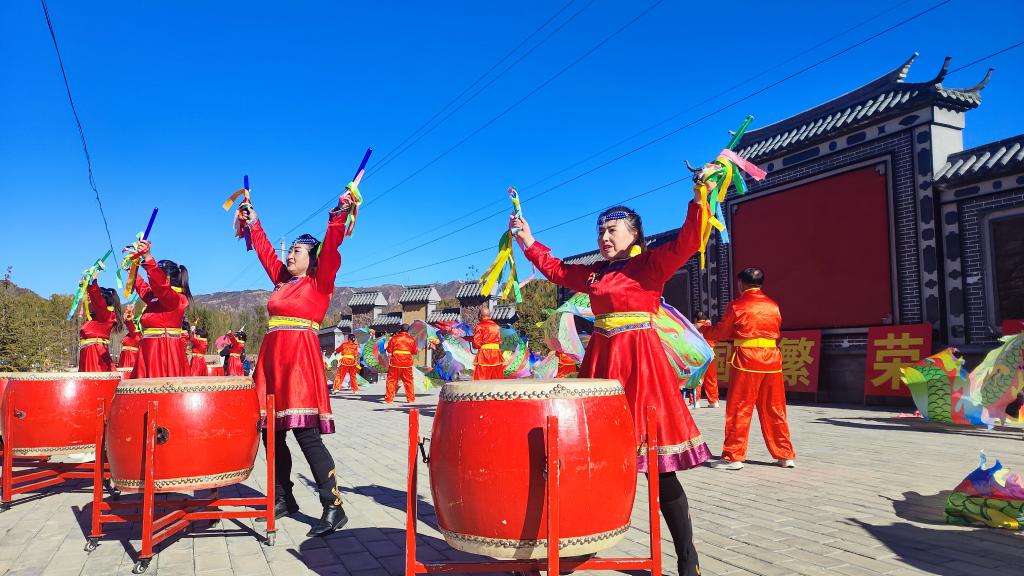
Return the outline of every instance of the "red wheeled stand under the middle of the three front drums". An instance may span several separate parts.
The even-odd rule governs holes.
[[[104,501],[103,492],[99,484],[93,486],[92,491],[92,530],[89,539],[85,544],[85,551],[91,552],[99,545],[102,538],[102,525],[109,523],[141,522],[142,524],[142,547],[139,551],[138,561],[132,569],[133,574],[142,574],[150,568],[153,561],[153,548],[171,536],[183,531],[188,524],[196,521],[208,520],[214,525],[221,520],[262,518],[266,521],[267,546],[274,544],[276,527],[274,526],[273,504],[274,504],[274,417],[273,395],[266,398],[266,434],[270,439],[266,443],[266,495],[262,498],[221,498],[217,494],[217,489],[211,491],[207,498],[174,498],[166,500],[156,499],[156,448],[158,444],[163,444],[163,440],[157,430],[157,418],[159,401],[150,401],[145,411],[145,438],[143,439],[142,455],[142,492],[141,501],[133,499],[121,501]],[[101,421],[101,420],[100,420]],[[96,446],[101,446],[97,442]],[[100,462],[100,451],[96,450],[96,461]],[[98,466],[96,468],[99,469]],[[98,478],[99,472],[96,472]],[[109,475],[108,475],[109,476]],[[222,507],[248,507],[248,510],[224,510]],[[160,515],[158,517],[158,513]]]

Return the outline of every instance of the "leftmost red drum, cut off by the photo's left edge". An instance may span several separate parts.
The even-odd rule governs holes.
[[[96,449],[97,399],[110,403],[121,381],[117,372],[19,372],[7,376],[0,414],[8,405],[20,415],[10,440],[15,456],[60,456]],[[13,403],[13,404],[11,404]]]

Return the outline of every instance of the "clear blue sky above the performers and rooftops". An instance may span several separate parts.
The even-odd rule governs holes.
[[[252,180],[276,239],[341,191],[375,148],[362,192],[372,201],[342,247],[339,285],[462,279],[494,251],[498,215],[387,261],[505,206],[520,187],[535,230],[679,178],[703,162],[745,114],[755,126],[856,88],[921,52],[910,81],[1024,39],[1024,3],[952,2],[741,105],[531,201],[658,134],[920,12],[911,0],[664,126],[534,184],[721,89],[754,76],[893,4],[666,1],[466,143],[419,170],[651,4],[577,0],[535,39],[579,13],[527,57],[394,162],[375,164],[564,5],[554,2],[106,2],[50,0],[49,9],[120,248],[160,207],[157,257],[189,266],[197,293],[268,288],[233,238],[220,203]],[[739,10],[721,12],[723,6]],[[734,24],[718,28],[715,17]],[[516,55],[521,53],[517,52]],[[514,59],[516,56],[513,56]],[[106,237],[38,2],[0,6],[0,266],[44,295],[70,292]],[[511,59],[508,61],[512,61]],[[950,75],[949,86],[995,75],[968,115],[965,145],[1024,131],[1024,48]],[[498,70],[503,70],[500,67]],[[680,223],[689,187],[631,204],[653,233]],[[483,212],[474,212],[490,204]],[[467,213],[473,215],[467,217]],[[323,236],[326,214],[288,235]],[[588,216],[538,236],[567,255],[594,246]],[[522,276],[529,274],[528,265]],[[102,282],[113,285],[108,273]]]

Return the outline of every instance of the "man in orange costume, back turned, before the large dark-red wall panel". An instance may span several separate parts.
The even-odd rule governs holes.
[[[751,416],[758,409],[768,452],[780,466],[794,467],[797,453],[785,421],[785,384],[778,338],[782,317],[778,304],[761,291],[765,275],[744,269],[736,277],[740,295],[729,303],[716,326],[701,332],[709,340],[733,340],[729,361],[729,398],[725,406],[725,446],[712,467],[738,470],[746,459]]]

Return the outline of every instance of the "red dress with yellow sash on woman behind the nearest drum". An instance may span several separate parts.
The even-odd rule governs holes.
[[[697,250],[698,220],[699,209],[691,203],[675,240],[626,260],[565,264],[540,242],[525,250],[529,261],[549,280],[590,294],[596,322],[580,377],[622,382],[633,411],[638,447],[646,437],[644,408],[657,409],[657,461],[662,472],[692,468],[711,458],[652,327],[665,283]],[[637,468],[647,471],[646,454],[640,448]]]

